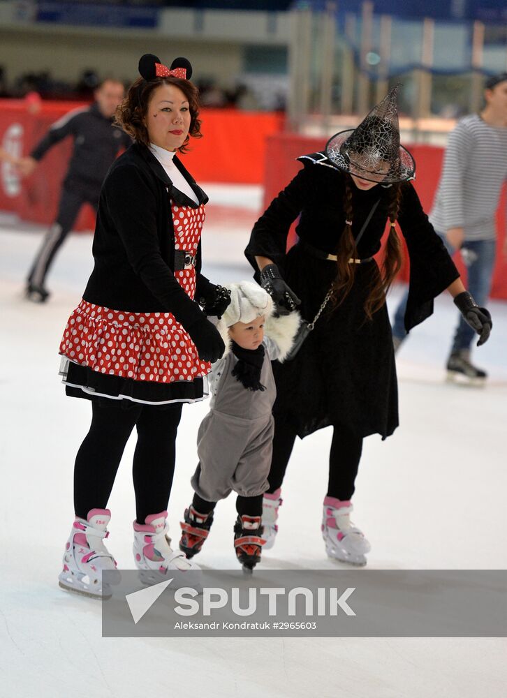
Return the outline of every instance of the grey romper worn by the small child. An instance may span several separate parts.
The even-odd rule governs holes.
[[[264,339],[264,363],[260,383],[265,390],[249,390],[232,375],[237,358],[233,352],[213,364],[210,380],[210,412],[201,422],[198,437],[199,464],[191,484],[208,502],[225,499],[232,490],[244,497],[265,492],[269,484],[277,396],[271,360],[277,345]]]

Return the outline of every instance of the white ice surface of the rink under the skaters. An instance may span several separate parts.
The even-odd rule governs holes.
[[[204,186],[204,273],[249,279],[242,249],[260,191]],[[23,279],[43,228],[0,219],[1,586],[0,696],[20,698],[500,698],[505,639],[101,637],[101,604],[57,586],[73,521],[73,461],[89,427],[87,401],[64,396],[59,339],[91,270],[91,235],[57,258],[50,302],[30,304]],[[395,306],[401,287],[389,299]],[[444,364],[456,312],[449,297],[399,352],[400,426],[365,441],[355,522],[372,542],[370,569],[507,567],[507,304],[492,302],[490,341],[474,352],[483,389],[450,385]],[[175,542],[191,500],[196,432],[207,404],[186,406],[177,441],[169,521]],[[297,441],[284,482],[280,531],[258,568],[330,568],[321,539],[330,430]],[[110,500],[109,549],[132,567],[134,517],[126,448]],[[217,507],[198,562],[235,568],[233,498]]]

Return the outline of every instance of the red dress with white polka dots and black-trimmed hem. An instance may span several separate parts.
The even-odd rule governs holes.
[[[204,219],[203,205],[172,206],[176,250],[196,255]],[[193,299],[194,267],[174,274]],[[202,399],[202,379],[210,372],[172,313],[118,311],[84,299],[68,318],[60,354],[67,386],[147,403]]]

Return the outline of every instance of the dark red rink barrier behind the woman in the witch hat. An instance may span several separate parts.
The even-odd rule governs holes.
[[[264,203],[267,206],[272,198],[288,184],[295,174],[301,169],[302,163],[295,158],[307,153],[321,150],[324,141],[321,138],[304,138],[293,134],[277,134],[267,138],[266,147],[266,171]],[[432,207],[436,186],[439,181],[443,149],[429,145],[409,146],[411,153],[416,158],[417,170],[414,185],[418,191],[425,211]],[[504,191],[497,214],[499,236],[497,241],[497,265],[494,269],[492,297],[507,299],[507,260],[501,253],[504,238],[506,236],[506,193]],[[290,244],[295,239],[294,227],[291,232]],[[466,278],[466,271],[462,265],[460,255],[455,255],[455,262],[460,274]],[[400,278],[408,278],[408,266],[400,274]]]

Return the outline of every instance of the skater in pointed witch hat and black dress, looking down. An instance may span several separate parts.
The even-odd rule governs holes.
[[[333,136],[259,218],[246,255],[279,313],[300,304],[313,332],[292,361],[274,364],[273,457],[264,497],[270,546],[281,484],[296,436],[333,427],[322,533],[333,558],[364,565],[370,546],[350,515],[362,440],[390,436],[398,426],[397,379],[385,292],[401,265],[396,224],[410,255],[409,330],[432,314],[447,289],[466,322],[487,340],[490,313],[466,292],[457,269],[410,184],[411,154],[399,144],[397,88],[352,131]],[[291,223],[299,242],[286,253]],[[381,269],[373,259],[386,219],[390,231]],[[325,299],[328,299],[327,303]],[[301,299],[301,300],[300,300]]]

